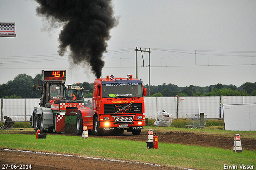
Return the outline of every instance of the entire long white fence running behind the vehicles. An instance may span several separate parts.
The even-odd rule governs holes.
[[[84,100],[92,101],[92,98]],[[172,114],[173,118],[186,118],[186,114],[204,113],[207,118],[223,118],[220,112],[220,96],[179,96],[179,97],[146,97],[145,117],[156,119],[157,110]],[[224,104],[253,104],[256,96],[221,96],[221,105]],[[2,99],[1,116],[24,116],[29,121],[34,107],[39,106],[39,98]],[[220,114],[221,113],[221,114]],[[25,118],[22,118],[23,121]],[[15,120],[16,121],[16,120]]]

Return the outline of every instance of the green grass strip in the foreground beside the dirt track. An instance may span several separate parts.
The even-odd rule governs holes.
[[[234,136],[234,133],[232,134]],[[165,143],[159,143],[158,146],[159,149],[148,149],[146,141],[92,137],[83,139],[82,136],[48,135],[46,139],[36,139],[36,135],[0,134],[0,148],[130,160],[205,170],[224,169],[224,164],[234,164],[238,167],[239,164],[256,165],[255,151],[245,150],[242,153],[234,153],[233,150],[220,148]]]

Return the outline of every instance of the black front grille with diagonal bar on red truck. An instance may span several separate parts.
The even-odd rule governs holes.
[[[129,104],[104,104],[104,114],[142,113],[142,103],[132,103],[128,105]]]

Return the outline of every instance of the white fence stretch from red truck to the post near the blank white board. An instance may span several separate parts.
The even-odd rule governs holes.
[[[186,118],[188,113],[220,118],[220,96],[146,97],[145,117],[156,118],[157,110],[165,110],[173,118]]]

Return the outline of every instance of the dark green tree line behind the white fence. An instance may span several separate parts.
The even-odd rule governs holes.
[[[0,84],[0,98],[40,98],[40,91],[33,91],[33,84],[42,83],[42,75],[36,74],[34,78],[26,74],[19,74],[6,84]],[[72,84],[78,86],[78,84]],[[93,83],[83,82],[79,86],[86,91],[84,97],[93,96]],[[148,84],[146,85],[149,90]],[[149,94],[147,92],[147,94]],[[206,87],[186,86],[178,87],[174,84],[161,84],[150,86],[151,96],[256,96],[256,82],[246,82],[240,87],[218,83]]]

